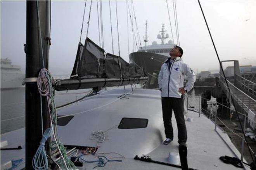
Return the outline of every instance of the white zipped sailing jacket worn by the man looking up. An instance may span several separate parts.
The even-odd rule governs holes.
[[[161,97],[181,98],[182,93],[178,92],[179,88],[183,88],[185,75],[188,76],[185,90],[190,91],[195,82],[195,73],[184,63],[180,57],[176,57],[171,63],[170,70],[168,68],[168,60],[161,66],[158,75],[158,85],[161,89]]]

